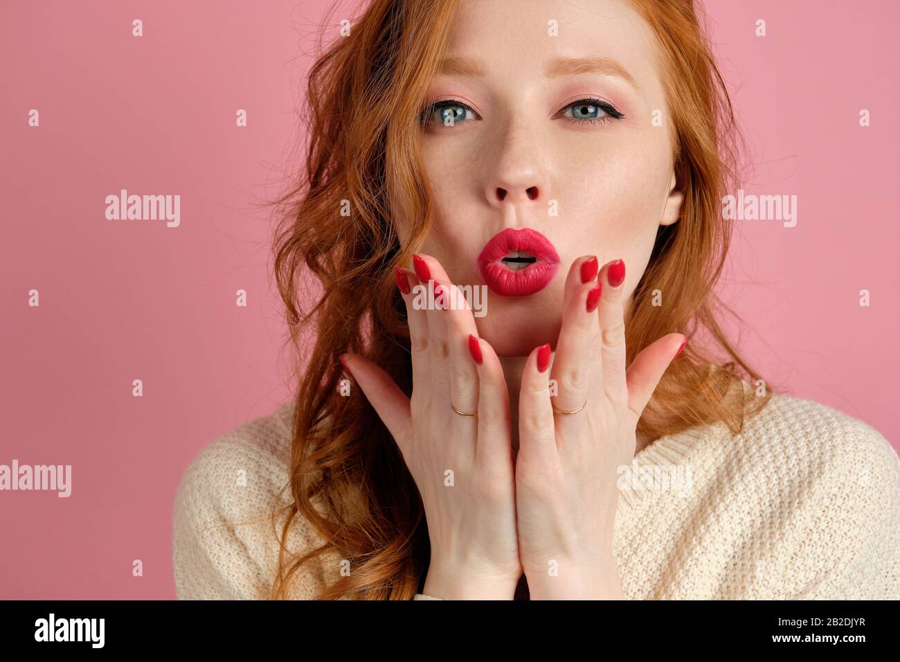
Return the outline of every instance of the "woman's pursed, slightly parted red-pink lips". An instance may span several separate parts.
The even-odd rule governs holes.
[[[509,253],[526,251],[535,261],[513,269],[503,262]],[[560,257],[554,245],[536,230],[508,228],[488,241],[478,256],[478,273],[493,292],[504,296],[533,295],[553,280]]]

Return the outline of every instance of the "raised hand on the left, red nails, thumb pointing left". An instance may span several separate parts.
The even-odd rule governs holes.
[[[412,397],[358,354],[341,360],[401,449],[425,508],[431,563],[423,592],[445,600],[511,600],[522,567],[516,531],[516,472],[509,395],[500,360],[478,338],[471,308],[436,258],[398,269],[410,326]],[[428,295],[428,280],[435,295]],[[416,286],[424,294],[417,297]],[[414,305],[416,301],[416,305]],[[421,309],[420,303],[428,306]],[[419,307],[417,307],[419,306]],[[470,339],[471,334],[471,339]],[[479,362],[478,359],[481,359]],[[455,413],[478,412],[475,417]]]

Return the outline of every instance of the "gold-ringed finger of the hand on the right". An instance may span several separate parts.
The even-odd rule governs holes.
[[[553,397],[552,404],[563,411],[576,410],[587,402],[591,384],[590,371],[599,369],[599,362],[594,356],[597,354],[594,345],[599,331],[596,310],[601,286],[590,279],[587,283],[581,283],[581,267],[578,262],[576,260],[572,263],[566,281],[567,285],[572,284],[572,292],[568,296],[569,304],[563,309],[563,325],[556,341],[551,375],[557,385],[557,394]]]

